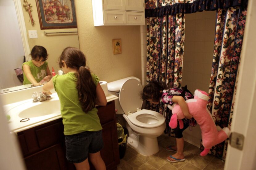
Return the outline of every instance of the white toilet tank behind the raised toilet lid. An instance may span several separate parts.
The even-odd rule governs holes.
[[[134,76],[126,77],[124,79],[119,79],[116,81],[112,81],[107,84],[109,93],[119,97],[119,91],[120,91],[122,85],[124,84],[124,82],[126,82],[126,80],[128,80],[128,79],[137,79],[141,83],[140,79],[138,79],[137,77],[134,77]],[[124,114],[124,111],[122,110],[122,107],[120,106],[119,99],[115,100],[115,108],[116,108],[116,114]]]

